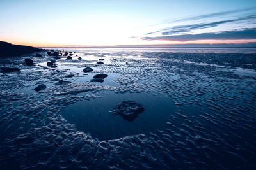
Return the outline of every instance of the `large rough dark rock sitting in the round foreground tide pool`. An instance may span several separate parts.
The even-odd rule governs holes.
[[[144,111],[144,108],[141,104],[134,101],[123,101],[113,108],[112,111],[109,111],[111,115],[120,115],[127,121],[133,121]]]

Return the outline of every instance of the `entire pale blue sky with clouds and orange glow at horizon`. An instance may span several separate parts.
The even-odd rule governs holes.
[[[0,0],[0,41],[29,46],[256,42],[255,0]]]

